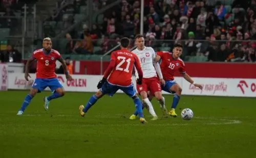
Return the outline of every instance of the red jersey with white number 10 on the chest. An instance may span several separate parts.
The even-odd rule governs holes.
[[[161,57],[160,67],[163,74],[163,80],[174,80],[176,71],[186,73],[184,62],[180,58],[175,60],[172,52],[158,51],[157,55]]]

